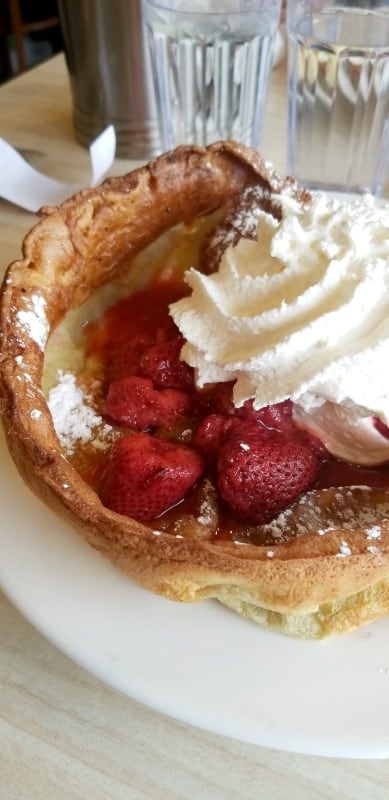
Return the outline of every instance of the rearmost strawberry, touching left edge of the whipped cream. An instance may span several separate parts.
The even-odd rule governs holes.
[[[194,386],[192,367],[181,361],[180,353],[185,343],[183,336],[149,347],[140,359],[140,369],[161,389],[189,389]]]

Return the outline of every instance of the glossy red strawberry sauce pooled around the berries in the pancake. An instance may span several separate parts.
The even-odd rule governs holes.
[[[158,344],[178,335],[179,332],[169,316],[168,307],[170,303],[182,297],[184,292],[185,287],[178,279],[157,279],[152,285],[110,306],[98,321],[88,323],[85,328],[85,350],[87,355],[98,356],[105,365],[104,394],[112,380],[112,376],[108,377],[109,370],[118,348],[135,339],[140,341],[143,346],[142,342],[150,341],[150,338]],[[138,358],[138,356],[136,357]],[[133,370],[133,366],[131,369]],[[217,387],[219,395],[220,388],[220,386]],[[189,444],[189,446],[196,446],[193,444],[191,432],[194,433],[202,419],[215,411],[213,406],[215,389],[209,387],[207,390],[197,391],[193,383],[192,387],[185,387],[185,391],[190,396],[190,412],[170,428],[162,427],[151,431],[151,434],[168,441],[177,440]],[[128,431],[123,431],[123,433],[126,434]],[[77,465],[84,479],[97,492],[101,488],[104,465],[105,461],[101,460],[101,455],[93,456],[90,452],[87,457],[83,456]],[[206,476],[209,476],[211,480],[213,478],[212,470],[212,464],[208,464]],[[330,456],[322,459],[313,488],[353,485],[388,487],[389,465],[372,469],[345,464]],[[163,515],[168,529],[169,525],[173,527],[175,520],[183,514],[196,515],[199,493],[200,488],[196,484],[176,508],[168,510]],[[218,537],[226,539],[239,537],[242,523],[234,512],[223,503],[223,500],[220,501],[219,519],[219,529],[216,532]],[[160,526],[160,519],[156,524],[158,527]],[[247,525],[244,527],[247,529]]]

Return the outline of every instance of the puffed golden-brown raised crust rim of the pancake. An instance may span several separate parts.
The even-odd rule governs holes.
[[[128,576],[175,600],[216,597],[299,636],[342,632],[389,609],[389,522],[305,533],[269,547],[157,534],[105,508],[65,458],[42,389],[49,331],[70,308],[128,267],[181,221],[219,208],[250,185],[268,203],[282,181],[254,151],[224,142],[181,147],[61,206],[43,209],[2,287],[0,390],[11,454],[32,490]],[[389,499],[371,491],[371,504]],[[378,521],[377,521],[378,522]],[[347,543],[347,555],[344,543]]]

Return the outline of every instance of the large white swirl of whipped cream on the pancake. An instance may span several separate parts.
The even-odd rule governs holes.
[[[353,426],[389,424],[389,205],[280,202],[281,222],[256,210],[257,241],[229,247],[216,273],[186,273],[192,293],[171,306],[182,357],[199,386],[235,380],[237,406],[291,398],[306,427],[325,403],[351,408]]]

